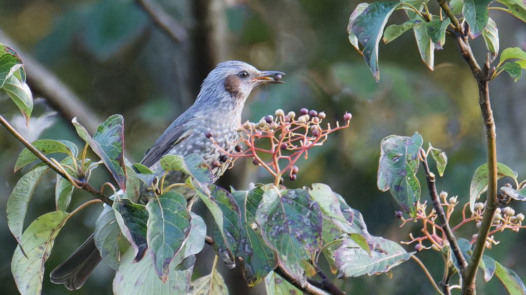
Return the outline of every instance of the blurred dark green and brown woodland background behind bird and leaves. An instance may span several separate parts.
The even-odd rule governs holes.
[[[109,115],[122,114],[127,157],[138,162],[171,121],[193,103],[201,81],[216,64],[243,60],[260,70],[287,73],[282,79],[284,85],[252,91],[244,120],[257,122],[278,108],[297,113],[300,108],[325,111],[325,121],[331,125],[341,121],[345,111],[353,114],[349,128],[332,133],[321,148],[309,151],[307,161],[299,161],[298,178],[295,182],[286,180],[287,187],[326,183],[360,210],[372,235],[409,240],[409,233],[421,234],[421,224],[399,228],[401,222],[395,218],[399,207],[389,192],[378,191],[376,172],[382,138],[418,131],[424,142],[448,155],[438,189],[459,196],[461,204],[453,223],[459,222],[473,172],[485,161],[485,142],[476,83],[454,39],[448,37],[444,50],[435,52],[434,71],[420,60],[412,32],[388,45],[380,44],[380,82],[376,83],[348,41],[347,23],[358,1],[150,1],[153,3],[149,5],[171,17],[176,38],[154,23],[141,1],[0,0],[0,42],[21,53],[35,98],[29,128],[4,93],[0,95],[0,113],[29,140],[64,139],[79,146],[84,144],[70,123],[74,116],[93,132]],[[490,16],[499,27],[502,49],[526,49],[524,23],[498,10],[490,10]],[[396,12],[389,24],[404,21],[404,14]],[[482,38],[471,43],[482,62],[486,56]],[[70,92],[64,94],[65,89]],[[490,91],[498,160],[517,171],[522,180],[526,177],[526,80],[513,83],[504,74],[490,82]],[[64,100],[74,96],[83,104]],[[0,208],[6,207],[21,177],[21,172],[13,173],[21,150],[22,145],[0,128]],[[219,184],[244,189],[250,182],[271,182],[268,176],[251,161],[239,160]],[[421,172],[419,176],[423,184]],[[29,204],[25,226],[54,209],[55,176],[48,173],[44,177]],[[100,187],[109,179],[98,168],[91,182]],[[424,202],[429,196],[426,186],[422,188]],[[88,199],[89,194],[75,191],[70,210]],[[526,212],[523,204],[515,202],[512,206],[517,213]],[[46,264],[43,294],[69,293],[64,286],[50,283],[48,273],[92,233],[101,209],[98,204],[88,206],[60,232]],[[456,234],[470,239],[474,232],[470,224]],[[485,254],[526,280],[523,231],[505,231],[495,234],[495,239],[501,243]],[[0,241],[0,294],[17,294],[10,267],[16,241],[7,228],[5,214],[0,214]],[[413,246],[404,248],[410,251]],[[209,271],[206,262],[211,255],[209,247],[200,255],[198,269],[203,274]],[[423,251],[418,257],[438,282],[443,271],[438,252]],[[231,294],[264,293],[262,284],[247,289],[239,270],[221,272]],[[113,275],[113,270],[101,264],[86,285],[72,293],[110,294]],[[479,294],[505,292],[497,278],[478,282]],[[436,292],[412,260],[395,268],[392,279],[384,275],[339,280],[336,284],[348,294]]]

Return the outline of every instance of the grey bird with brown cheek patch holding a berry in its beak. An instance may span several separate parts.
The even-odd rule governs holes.
[[[231,151],[238,140],[241,112],[254,87],[280,81],[285,73],[260,71],[246,62],[224,61],[218,64],[201,84],[194,104],[159,136],[140,164],[152,171],[161,170],[164,155],[199,154],[210,166],[217,180],[232,162],[222,151]],[[214,138],[215,144],[210,140]],[[222,151],[221,151],[222,150]],[[180,181],[177,177],[170,181]],[[69,290],[84,285],[90,273],[102,260],[92,234],[68,259],[50,273],[50,280]]]

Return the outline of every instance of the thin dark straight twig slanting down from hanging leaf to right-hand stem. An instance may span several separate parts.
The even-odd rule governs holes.
[[[433,204],[434,210],[437,212],[437,216],[440,220],[440,227],[444,230],[444,233],[446,234],[446,237],[449,241],[449,245],[451,247],[451,251],[453,251],[453,255],[457,259],[460,271],[464,271],[468,267],[468,262],[462,255],[462,252],[460,251],[460,247],[457,243],[457,239],[453,235],[453,232],[451,231],[451,228],[449,227],[448,220],[446,219],[446,214],[444,214],[444,209],[440,205],[440,197],[437,193],[437,186],[435,183],[436,178],[434,175],[429,171],[429,166],[427,163],[427,157],[426,152],[424,150],[420,149],[420,160],[422,161],[422,164],[424,166],[424,170],[426,171],[426,180],[428,184],[429,189],[429,195],[431,196],[431,202]]]

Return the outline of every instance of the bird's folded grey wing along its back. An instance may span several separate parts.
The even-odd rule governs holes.
[[[173,148],[178,142],[183,140],[188,134],[193,130],[193,126],[189,126],[189,121],[187,120],[176,120],[174,121],[168,129],[157,139],[154,145],[149,148],[144,154],[143,160],[140,161],[141,164],[146,167],[151,167],[157,161],[161,159],[166,153],[168,153],[171,148]]]

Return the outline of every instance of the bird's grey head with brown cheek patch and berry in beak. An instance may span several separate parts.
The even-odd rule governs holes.
[[[206,77],[196,103],[218,102],[223,107],[242,107],[250,91],[257,85],[283,83],[279,71],[260,71],[246,62],[229,60],[221,62]]]

